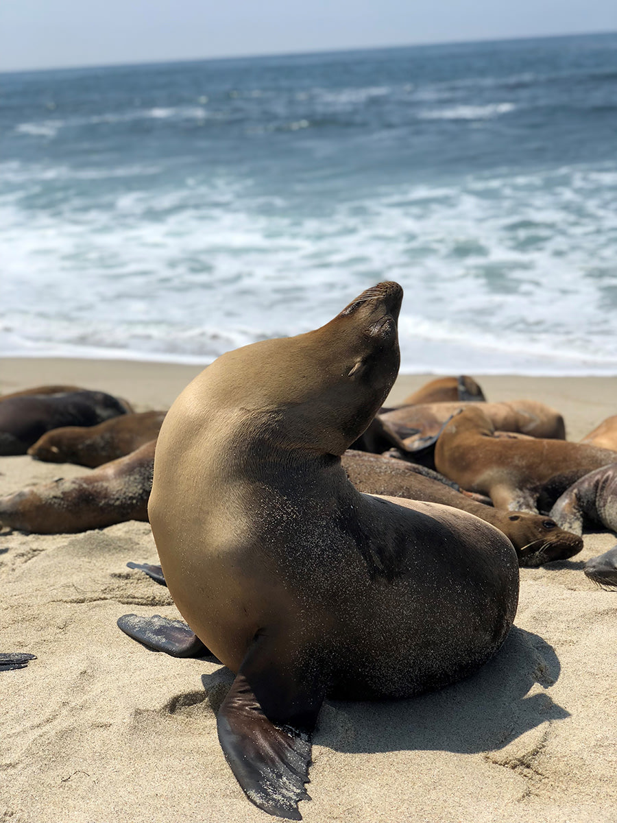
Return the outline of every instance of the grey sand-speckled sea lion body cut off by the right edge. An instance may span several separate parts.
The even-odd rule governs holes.
[[[617,532],[617,463],[597,468],[573,483],[550,509],[562,528],[582,534],[584,520]]]

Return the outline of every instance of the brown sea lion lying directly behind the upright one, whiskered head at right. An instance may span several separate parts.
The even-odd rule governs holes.
[[[562,531],[554,519],[529,512],[504,512],[477,503],[443,482],[424,477],[410,463],[348,450],[343,454],[342,464],[359,491],[443,503],[491,523],[512,542],[518,565],[539,566],[552,560],[565,560],[582,549],[581,537]]]

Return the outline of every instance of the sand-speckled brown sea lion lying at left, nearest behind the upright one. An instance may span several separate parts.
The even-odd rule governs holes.
[[[156,441],[84,477],[30,486],[0,497],[0,523],[20,532],[86,532],[148,519]]]

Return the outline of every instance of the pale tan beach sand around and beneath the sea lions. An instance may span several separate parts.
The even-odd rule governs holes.
[[[76,383],[142,411],[169,406],[198,370],[4,360],[0,390]],[[571,439],[617,411],[617,379],[476,377],[490,400],[558,407]],[[399,379],[392,399],[424,380]],[[17,457],[0,459],[0,472],[4,494],[87,469]],[[244,797],[216,737],[230,672],[148,651],[116,627],[130,611],[178,617],[165,588],[126,568],[157,562],[147,523],[1,537],[0,651],[38,659],[0,673],[0,821],[271,820]],[[573,560],[522,570],[516,627],[474,677],[415,700],[327,701],[304,820],[615,823],[617,593],[581,570],[614,544],[586,534]]]

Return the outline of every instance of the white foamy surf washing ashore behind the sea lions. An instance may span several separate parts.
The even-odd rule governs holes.
[[[325,217],[223,177],[86,210],[20,198],[0,201],[6,353],[207,362],[393,279],[404,371],[617,374],[615,168],[394,186]]]

